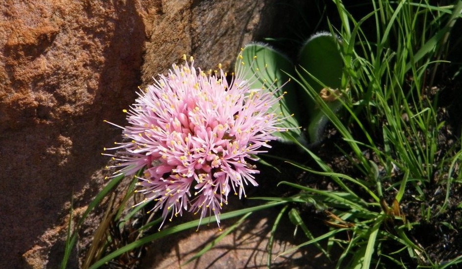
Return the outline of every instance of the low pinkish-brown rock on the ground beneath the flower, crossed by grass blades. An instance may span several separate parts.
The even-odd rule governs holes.
[[[218,229],[201,230],[189,234],[186,238],[178,240],[178,242],[172,242],[173,244],[154,247],[146,255],[147,257],[144,259],[141,268],[265,268],[268,259],[268,240],[271,225],[272,221],[268,219],[261,219],[257,223],[244,223],[214,244],[213,248],[205,252],[201,257],[185,264],[197,252],[223,233]],[[303,259],[303,255],[307,255],[306,249],[290,251],[287,254],[278,256],[284,251],[295,247],[295,245],[288,242],[290,239],[293,240],[293,238],[276,239],[271,251],[273,267],[311,269],[307,264],[306,266],[303,264],[306,262],[306,259]],[[170,252],[164,252],[165,249],[170,248],[172,249]],[[313,249],[310,248],[310,250]]]

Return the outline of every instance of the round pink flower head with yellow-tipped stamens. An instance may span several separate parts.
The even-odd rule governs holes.
[[[201,220],[213,213],[219,224],[229,193],[241,198],[244,185],[258,185],[259,171],[248,160],[270,148],[274,132],[286,130],[272,109],[282,97],[273,94],[280,90],[274,84],[251,89],[242,79],[244,69],[228,83],[221,65],[206,74],[196,71],[192,57],[190,64],[183,59],[184,65],[173,65],[124,110],[129,126],[114,125],[126,142],[111,148],[119,150],[116,155],[106,155],[120,161],[112,166],[115,174],[145,169],[137,192],[145,195],[142,202],[155,201],[151,211],[162,209],[164,221],[189,210]]]

